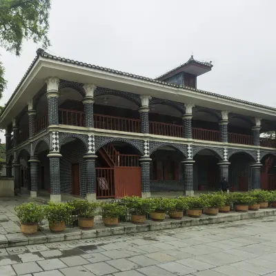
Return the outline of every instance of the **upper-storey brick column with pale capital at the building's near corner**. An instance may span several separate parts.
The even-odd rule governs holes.
[[[47,99],[48,99],[48,121],[49,126],[59,124],[59,79],[57,77],[49,77],[47,83]]]

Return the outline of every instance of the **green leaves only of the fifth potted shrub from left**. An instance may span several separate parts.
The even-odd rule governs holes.
[[[121,203],[129,208],[132,215],[146,215],[152,213],[156,206],[153,199],[142,199],[141,197],[124,197]]]

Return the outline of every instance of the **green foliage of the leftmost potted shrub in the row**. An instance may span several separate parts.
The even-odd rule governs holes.
[[[38,223],[44,218],[43,206],[32,202],[15,206],[14,210],[17,212],[17,217],[19,217],[21,223],[23,224]]]

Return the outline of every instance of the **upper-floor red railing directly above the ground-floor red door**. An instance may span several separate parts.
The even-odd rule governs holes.
[[[128,118],[95,114],[94,126],[95,128],[101,128],[106,130],[140,132],[139,119],[128,119]]]

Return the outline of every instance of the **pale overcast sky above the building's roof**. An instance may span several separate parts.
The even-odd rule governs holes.
[[[155,78],[195,59],[213,61],[197,88],[276,107],[276,1],[52,0],[52,55]],[[1,50],[6,103],[39,45]]]

